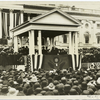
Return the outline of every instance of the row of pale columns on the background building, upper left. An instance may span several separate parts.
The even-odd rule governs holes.
[[[3,9],[0,9],[0,38],[2,38],[2,10]],[[11,29],[13,29],[13,22],[14,22],[14,13],[13,13],[13,9],[10,9],[10,12],[9,12],[9,14],[10,14],[10,30]],[[24,14],[24,12],[23,11],[20,11],[20,20],[21,20],[21,23],[20,24],[22,24],[23,23],[23,14]],[[9,36],[10,36],[10,38],[12,38],[13,37],[13,34],[12,34],[12,32],[10,32],[9,33]]]

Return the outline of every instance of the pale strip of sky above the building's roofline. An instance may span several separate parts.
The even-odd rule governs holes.
[[[68,6],[73,6],[75,5],[77,8],[86,8],[86,9],[99,9],[100,10],[100,0],[98,1],[35,1],[35,0],[31,0],[31,1],[0,1],[0,5],[1,4],[30,4],[30,5],[35,5],[35,4],[63,4],[63,5],[68,5]]]

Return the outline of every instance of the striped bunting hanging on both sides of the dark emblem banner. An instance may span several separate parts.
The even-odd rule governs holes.
[[[73,70],[78,70],[81,68],[81,56],[78,57],[78,64],[75,54],[68,55],[68,59],[70,59],[70,66]],[[32,55],[32,68],[34,69],[41,69],[43,68],[43,61],[45,57],[43,54],[41,55]]]

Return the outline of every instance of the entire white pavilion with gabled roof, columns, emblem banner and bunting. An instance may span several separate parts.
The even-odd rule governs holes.
[[[18,38],[21,43],[21,37],[29,38],[29,55],[31,57],[31,70],[44,68],[67,69],[72,67],[74,70],[79,67],[77,34],[80,22],[69,14],[59,9],[51,10],[45,14],[35,17],[11,30],[14,35],[14,52],[18,52]],[[52,55],[43,54],[43,48],[56,49],[54,37],[69,34],[69,48],[63,56],[56,53]],[[47,38],[50,40],[48,45]],[[52,54],[52,53],[51,53]],[[76,68],[75,68],[76,67]]]

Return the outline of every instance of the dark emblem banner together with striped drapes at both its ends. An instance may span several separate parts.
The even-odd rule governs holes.
[[[73,56],[73,57],[72,57]],[[81,57],[78,57],[78,64],[76,55],[32,55],[33,69],[68,69],[72,67],[74,70],[81,68]],[[73,60],[75,65],[73,65]]]

